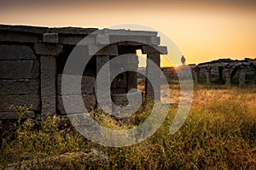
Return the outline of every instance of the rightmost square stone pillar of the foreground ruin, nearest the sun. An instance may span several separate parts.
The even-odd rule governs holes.
[[[154,62],[155,65],[159,66],[160,69],[160,54],[147,54],[147,67],[146,67],[146,84],[145,84],[145,98],[146,100],[159,100],[160,101],[160,80],[158,81],[157,79],[160,79],[160,72],[158,69],[154,69],[153,65],[150,65],[148,62],[148,59]],[[149,78],[152,78],[155,80],[154,87],[151,85],[151,83],[148,81]],[[154,94],[156,94],[154,96]]]

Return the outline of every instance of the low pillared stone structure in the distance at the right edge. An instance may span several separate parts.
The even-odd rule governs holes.
[[[215,77],[218,83],[231,85],[232,79],[237,77],[239,87],[243,87],[248,76],[248,82],[256,84],[256,59],[218,59],[194,65],[191,69],[195,83],[201,83],[201,79],[205,79],[206,84],[211,84],[212,77]]]

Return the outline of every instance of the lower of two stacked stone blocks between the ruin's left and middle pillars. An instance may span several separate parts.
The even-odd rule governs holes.
[[[80,95],[62,95],[66,99],[70,99],[73,102],[69,102],[67,107],[73,109],[72,113],[79,113],[83,111],[83,107],[79,105],[79,99]],[[63,102],[62,102],[62,96],[58,95],[57,98],[57,108],[60,111],[61,114],[67,114],[65,111]],[[86,107],[87,111],[92,111],[96,109],[96,97],[95,94],[83,94],[82,99],[84,102],[84,106]]]

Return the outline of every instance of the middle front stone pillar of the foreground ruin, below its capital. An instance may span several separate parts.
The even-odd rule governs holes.
[[[109,61],[109,56],[108,55],[97,55],[96,56],[96,75],[98,76],[98,71],[102,69],[103,65],[106,65],[107,62]],[[104,74],[106,74],[106,77],[109,77],[109,79],[103,79],[103,80],[96,80],[96,101],[101,100],[102,101],[102,106],[104,109],[108,111],[112,111],[112,101],[110,97],[110,87],[109,87],[109,92],[105,92],[105,89],[98,88],[98,84],[101,83],[103,87],[110,86],[110,70],[109,70],[109,65],[107,65],[108,71],[105,71]],[[98,93],[104,93],[106,95],[101,95],[98,96]],[[97,99],[98,97],[98,99]]]

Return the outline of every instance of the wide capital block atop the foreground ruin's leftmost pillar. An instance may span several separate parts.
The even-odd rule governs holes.
[[[34,50],[36,54],[57,56],[62,52],[62,45],[35,43]]]

